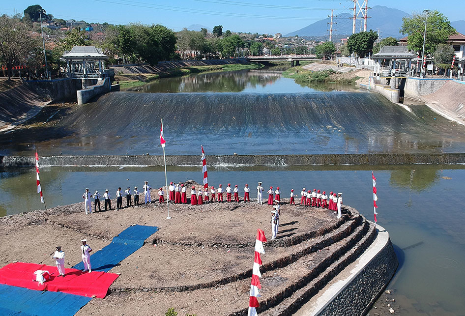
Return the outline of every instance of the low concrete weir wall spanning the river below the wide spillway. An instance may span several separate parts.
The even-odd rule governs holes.
[[[212,166],[464,164],[465,153],[380,153],[326,155],[211,155]],[[199,156],[166,156],[169,166],[201,165]],[[0,167],[34,166],[33,156],[0,156]],[[49,156],[41,166],[163,166],[163,156]]]

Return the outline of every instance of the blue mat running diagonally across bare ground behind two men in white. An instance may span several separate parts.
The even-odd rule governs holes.
[[[144,245],[144,240],[158,230],[155,226],[134,225],[121,231],[113,238],[112,243],[90,256],[92,270],[108,272],[123,259],[129,257]],[[90,245],[92,247],[92,245]],[[81,261],[74,269],[83,270]]]

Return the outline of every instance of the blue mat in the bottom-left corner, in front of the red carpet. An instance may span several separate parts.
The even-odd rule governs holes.
[[[72,316],[92,298],[0,284],[0,315]]]

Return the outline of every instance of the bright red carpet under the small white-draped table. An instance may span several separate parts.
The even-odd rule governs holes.
[[[51,278],[44,284],[35,281],[36,270],[47,270]],[[49,290],[75,295],[104,298],[108,288],[117,279],[116,273],[92,271],[82,272],[76,269],[65,269],[65,277],[60,277],[56,266],[45,264],[15,262],[0,269],[0,284],[15,287],[26,287],[36,290]]]

